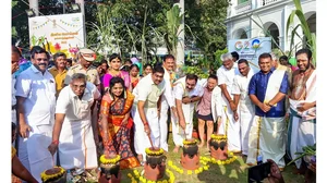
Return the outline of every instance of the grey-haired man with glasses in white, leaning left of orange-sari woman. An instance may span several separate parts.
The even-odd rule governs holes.
[[[49,151],[59,152],[60,166],[66,170],[95,169],[98,167],[96,145],[92,130],[90,111],[100,98],[97,87],[86,82],[86,75],[75,73],[71,84],[59,94],[56,123]]]

